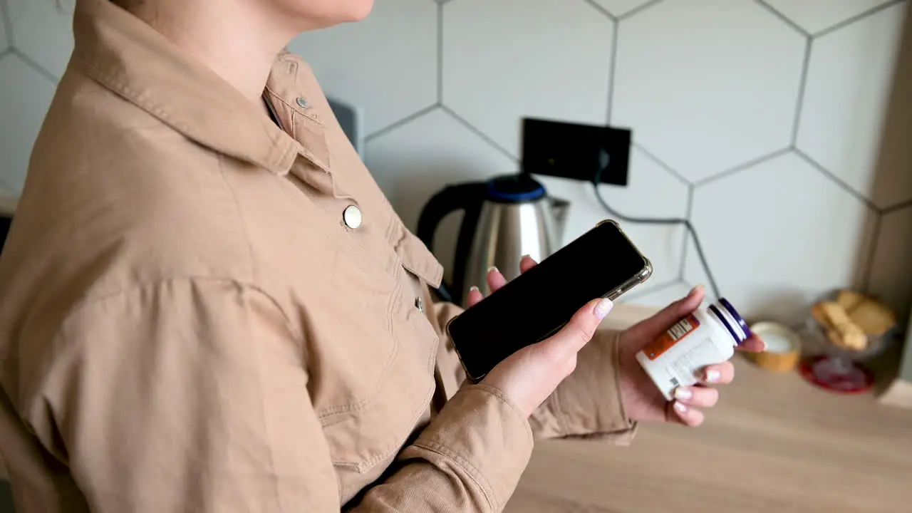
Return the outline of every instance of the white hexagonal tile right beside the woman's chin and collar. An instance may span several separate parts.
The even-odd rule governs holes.
[[[288,46],[327,96],[364,112],[369,134],[437,101],[437,5],[384,0],[364,21],[308,32]]]

